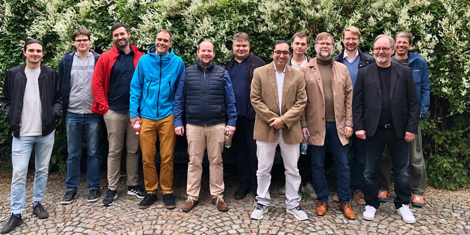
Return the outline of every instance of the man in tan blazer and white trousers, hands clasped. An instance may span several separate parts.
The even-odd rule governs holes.
[[[305,79],[301,72],[287,65],[290,46],[286,41],[274,43],[273,62],[254,70],[251,81],[251,105],[256,111],[253,139],[256,140],[258,204],[251,219],[262,219],[270,204],[269,185],[276,147],[281,147],[285,167],[286,212],[296,219],[308,219],[300,208],[300,175],[297,161],[302,141],[300,115],[305,108]]]

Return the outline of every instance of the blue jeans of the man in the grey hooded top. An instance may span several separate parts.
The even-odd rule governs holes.
[[[83,131],[87,143],[87,183],[89,189],[100,188],[101,156],[99,154],[99,140],[101,136],[101,120],[103,118],[94,113],[78,114],[67,112],[65,128],[67,128],[67,176],[65,178],[66,191],[77,190],[80,181],[80,157]]]

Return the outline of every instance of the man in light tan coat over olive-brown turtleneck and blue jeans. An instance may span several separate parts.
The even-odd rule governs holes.
[[[349,137],[353,133],[352,120],[352,81],[344,64],[331,58],[333,37],[327,32],[315,38],[316,57],[300,68],[305,74],[307,105],[301,116],[303,139],[309,132],[309,148],[312,154],[313,188],[318,196],[316,214],[327,213],[328,183],[325,176],[325,151],[331,145],[338,197],[341,210],[348,219],[356,219],[349,204]]]

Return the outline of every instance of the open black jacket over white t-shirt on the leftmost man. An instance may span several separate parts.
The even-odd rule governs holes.
[[[42,136],[47,136],[56,128],[55,120],[61,116],[62,92],[53,68],[41,66],[39,74],[39,97],[41,99]],[[26,89],[26,64],[18,65],[7,71],[0,96],[1,109],[5,120],[13,131],[13,136],[19,138],[23,98]]]

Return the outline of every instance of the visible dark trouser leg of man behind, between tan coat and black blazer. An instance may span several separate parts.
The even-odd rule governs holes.
[[[364,184],[364,143],[365,140],[359,139],[355,134],[352,135],[352,148],[354,151],[354,160],[351,170],[352,191],[363,189]]]

